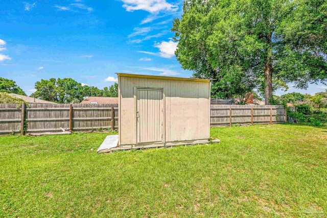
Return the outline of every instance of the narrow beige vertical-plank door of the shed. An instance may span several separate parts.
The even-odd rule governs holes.
[[[137,143],[162,142],[162,89],[136,90]]]

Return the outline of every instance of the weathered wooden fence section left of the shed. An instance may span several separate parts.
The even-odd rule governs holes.
[[[0,135],[118,129],[116,104],[0,104]]]

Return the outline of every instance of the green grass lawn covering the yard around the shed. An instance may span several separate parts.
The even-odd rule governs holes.
[[[326,128],[212,128],[221,143],[98,155],[106,135],[0,137],[0,217],[327,216]]]

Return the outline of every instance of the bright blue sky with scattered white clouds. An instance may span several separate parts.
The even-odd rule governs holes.
[[[115,72],[190,77],[171,40],[181,6],[182,0],[2,0],[0,77],[15,80],[27,94],[36,81],[50,78],[103,88],[114,83]],[[288,92],[327,88],[291,85]]]

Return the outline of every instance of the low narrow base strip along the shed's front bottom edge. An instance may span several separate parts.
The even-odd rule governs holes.
[[[114,151],[124,151],[124,150],[131,150],[131,149],[151,149],[151,148],[170,148],[173,146],[182,146],[182,145],[192,145],[192,144],[207,144],[207,143],[218,143],[220,142],[219,139],[214,139],[209,141],[208,139],[199,139],[199,140],[188,140],[188,141],[170,141],[166,143],[148,143],[148,144],[126,144],[123,146],[117,146],[114,148],[108,148],[103,150],[98,150],[98,154],[101,153],[108,153]]]

